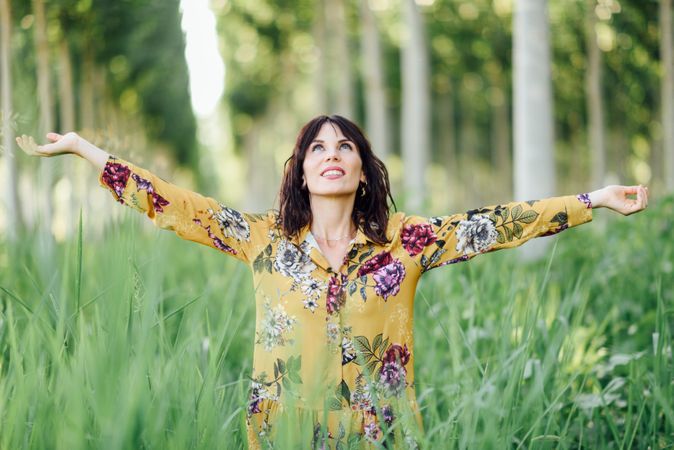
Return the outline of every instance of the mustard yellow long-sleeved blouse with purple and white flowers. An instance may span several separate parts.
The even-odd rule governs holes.
[[[251,268],[256,323],[247,426],[252,448],[271,446],[275,427],[281,426],[301,448],[385,440],[414,448],[421,429],[412,333],[419,277],[592,220],[586,194],[431,218],[398,212],[388,223],[389,244],[377,245],[359,230],[334,272],[309,227],[289,239],[275,211],[240,213],[114,156],[100,183],[158,227]],[[397,422],[401,425],[394,427]],[[309,423],[309,435],[300,431],[302,423]]]

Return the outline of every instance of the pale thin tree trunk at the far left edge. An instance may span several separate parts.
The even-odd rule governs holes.
[[[12,78],[10,70],[12,16],[10,0],[0,0],[0,96],[2,96],[2,149],[5,155],[5,207],[7,217],[7,237],[10,241],[17,238],[21,227],[21,204],[18,194],[18,170],[14,156],[14,132],[12,130]]]

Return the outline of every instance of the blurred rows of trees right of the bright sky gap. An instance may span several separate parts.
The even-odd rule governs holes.
[[[413,210],[443,184],[479,202],[505,200],[513,180],[518,198],[674,183],[667,1],[231,0],[216,12],[225,106],[249,161],[275,159],[268,133],[292,143],[287,130],[332,111],[394,155]],[[282,160],[251,164],[250,204],[269,204]]]

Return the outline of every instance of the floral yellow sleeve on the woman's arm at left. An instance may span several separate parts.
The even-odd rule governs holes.
[[[246,263],[254,243],[264,241],[269,231],[269,215],[242,214],[115,156],[108,159],[99,182],[115,200],[144,213],[159,228]]]

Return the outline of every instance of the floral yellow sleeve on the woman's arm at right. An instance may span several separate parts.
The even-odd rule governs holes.
[[[463,214],[408,216],[401,230],[407,253],[422,272],[467,261],[479,254],[518,247],[592,220],[587,195],[512,202]]]

